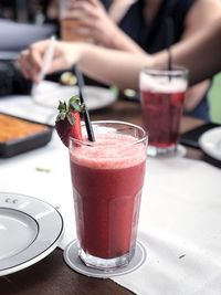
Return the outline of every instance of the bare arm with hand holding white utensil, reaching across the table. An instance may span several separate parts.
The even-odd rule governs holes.
[[[138,88],[139,71],[144,66],[167,64],[168,52],[135,54],[87,43],[55,43],[50,72],[65,70],[77,63],[84,73],[120,88]],[[38,81],[43,54],[49,41],[38,42],[23,51],[19,62],[25,77]],[[198,34],[171,48],[172,60],[190,70],[190,84],[212,77],[221,71],[221,18]]]

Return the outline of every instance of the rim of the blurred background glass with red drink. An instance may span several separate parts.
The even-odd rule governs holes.
[[[168,70],[166,65],[152,65],[152,66],[144,66],[140,70],[140,73],[148,73],[150,75],[161,75],[161,76],[168,76],[168,75],[187,76],[189,74],[189,70],[186,66],[177,64],[172,65],[171,70]]]

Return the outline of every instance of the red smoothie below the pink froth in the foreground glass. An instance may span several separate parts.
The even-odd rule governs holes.
[[[128,253],[136,238],[145,162],[116,170],[72,162],[71,171],[77,189],[75,208],[84,252],[103,259]]]

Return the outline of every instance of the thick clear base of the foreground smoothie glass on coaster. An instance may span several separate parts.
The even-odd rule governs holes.
[[[86,266],[94,267],[97,270],[115,270],[124,267],[129,264],[134,256],[135,249],[130,253],[124,254],[114,259],[101,259],[85,253],[82,249],[78,250],[78,256]]]

